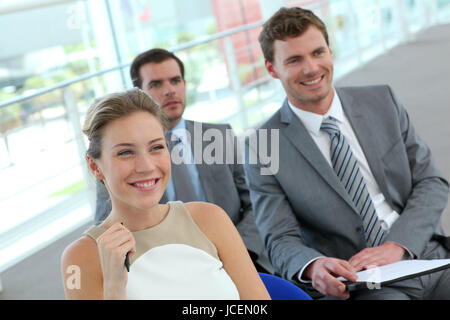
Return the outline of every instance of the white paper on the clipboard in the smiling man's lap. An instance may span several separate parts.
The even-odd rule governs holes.
[[[343,277],[339,277],[338,280],[346,283],[349,291],[380,289],[383,285],[437,272],[446,268],[450,268],[450,259],[404,260],[357,272],[358,280],[355,283],[351,283]]]

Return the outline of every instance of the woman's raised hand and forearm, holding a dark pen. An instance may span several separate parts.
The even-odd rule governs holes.
[[[121,223],[112,225],[97,239],[103,272],[104,299],[126,299],[128,273],[124,262],[128,252],[136,252],[131,232]]]

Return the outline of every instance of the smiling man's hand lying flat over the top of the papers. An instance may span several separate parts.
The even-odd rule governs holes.
[[[354,255],[350,265],[356,272],[373,267],[381,267],[402,260],[405,249],[393,242],[385,242],[381,246],[366,248]]]

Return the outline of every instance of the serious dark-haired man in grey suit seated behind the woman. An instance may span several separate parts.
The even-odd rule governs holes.
[[[228,124],[208,124],[183,119],[186,106],[186,81],[183,62],[164,49],[152,49],[138,55],[130,68],[135,87],[150,95],[161,107],[168,120],[166,132],[169,146],[179,147],[180,157],[186,161],[174,164],[172,175],[161,202],[206,201],[220,206],[236,225],[248,251],[259,271],[272,272],[264,253],[261,237],[256,228],[250,195],[242,162],[236,158],[237,143]],[[207,133],[213,133],[207,137]],[[173,134],[174,136],[171,136]],[[218,161],[203,159],[211,137],[222,137],[213,155]],[[170,141],[172,140],[172,141]],[[178,153],[171,152],[173,155]],[[233,159],[227,158],[231,151]],[[214,153],[214,152],[213,152]],[[231,161],[230,161],[231,160]],[[211,163],[213,162],[213,163]],[[104,185],[97,182],[97,208],[95,222],[99,224],[111,211],[111,202]]]

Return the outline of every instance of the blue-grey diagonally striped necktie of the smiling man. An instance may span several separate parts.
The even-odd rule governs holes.
[[[361,215],[367,245],[376,247],[383,239],[384,230],[350,145],[345,141],[333,118],[325,119],[320,129],[330,136],[333,169]]]

